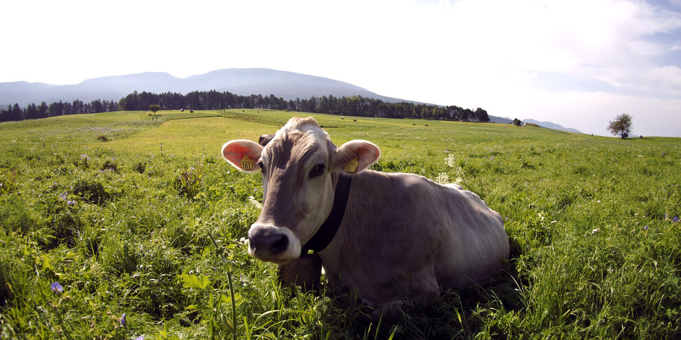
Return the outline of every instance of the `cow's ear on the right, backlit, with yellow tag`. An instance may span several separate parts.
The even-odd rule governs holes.
[[[334,170],[346,174],[358,174],[367,170],[380,157],[380,149],[371,141],[348,141],[336,150]]]

